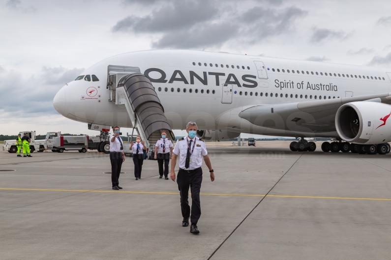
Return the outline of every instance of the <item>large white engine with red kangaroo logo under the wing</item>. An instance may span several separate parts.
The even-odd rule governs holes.
[[[380,144],[391,141],[391,105],[376,102],[352,102],[339,107],[335,127],[345,141]]]

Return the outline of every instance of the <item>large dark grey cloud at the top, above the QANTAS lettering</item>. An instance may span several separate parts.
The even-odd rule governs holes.
[[[297,7],[279,8],[278,2],[256,3],[257,6],[238,11],[231,1],[168,1],[148,16],[121,19],[112,32],[153,35],[153,48],[219,47],[231,40],[254,44],[292,32],[295,21],[307,14]]]

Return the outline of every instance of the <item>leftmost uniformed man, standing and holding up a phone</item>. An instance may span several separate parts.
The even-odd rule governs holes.
[[[113,127],[113,135],[110,136],[110,162],[111,162],[111,183],[114,190],[120,190],[120,172],[122,162],[125,161],[123,144],[120,137],[120,128]]]

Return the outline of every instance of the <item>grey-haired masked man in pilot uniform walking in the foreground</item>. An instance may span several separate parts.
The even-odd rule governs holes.
[[[197,124],[189,122],[186,125],[187,136],[178,139],[173,151],[171,161],[171,180],[175,182],[175,165],[179,156],[179,171],[178,171],[178,189],[180,191],[180,208],[182,210],[182,227],[189,225],[189,217],[191,221],[190,233],[199,234],[197,222],[201,216],[200,204],[200,189],[202,182],[202,158],[204,157],[205,164],[211,173],[211,181],[214,181],[214,173],[211,165],[211,160],[208,156],[207,148],[204,140],[196,137]],[[188,202],[189,187],[191,190],[191,215]]]

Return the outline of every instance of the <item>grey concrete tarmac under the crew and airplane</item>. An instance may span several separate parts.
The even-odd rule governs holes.
[[[108,155],[25,158],[0,145],[0,260],[390,259],[391,154],[316,144],[208,142],[215,181],[204,165],[198,235],[181,226],[178,186],[157,161],[135,181],[126,157],[114,191]]]

